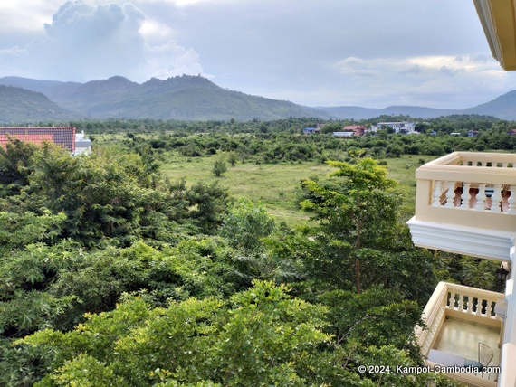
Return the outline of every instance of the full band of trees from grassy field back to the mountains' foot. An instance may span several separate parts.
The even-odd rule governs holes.
[[[334,137],[344,125],[375,125],[382,121],[411,120],[405,116],[379,117],[352,121],[319,122],[311,118],[249,122],[206,121],[178,122],[156,120],[80,121],[71,125],[85,130],[93,140],[96,134],[125,134],[129,148],[145,145],[158,152],[176,150],[186,157],[212,156],[217,152],[233,154],[234,159],[249,163],[279,163],[327,160],[349,161],[349,154],[365,149],[365,156],[375,159],[404,154],[443,156],[454,151],[509,150],[516,148],[516,136],[508,134],[515,124],[483,116],[450,116],[416,120],[421,135],[400,135],[379,130],[363,137]],[[324,124],[320,134],[303,135],[303,127]],[[475,137],[468,137],[473,130]],[[460,137],[450,136],[459,133]]]

